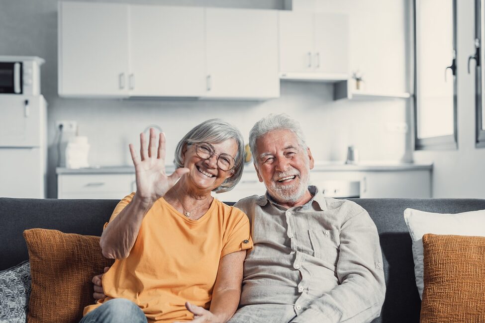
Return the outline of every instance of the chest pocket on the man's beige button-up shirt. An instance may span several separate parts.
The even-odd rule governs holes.
[[[340,232],[338,230],[308,230],[313,255],[334,266],[338,260]]]

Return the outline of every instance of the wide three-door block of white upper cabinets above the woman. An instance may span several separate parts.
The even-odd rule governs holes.
[[[280,95],[276,10],[59,3],[59,95]]]

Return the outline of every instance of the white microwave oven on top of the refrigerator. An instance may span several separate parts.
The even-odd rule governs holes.
[[[40,94],[40,66],[37,56],[0,56],[0,94]]]

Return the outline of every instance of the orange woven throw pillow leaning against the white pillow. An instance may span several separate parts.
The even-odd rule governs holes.
[[[421,323],[485,322],[485,237],[426,234]]]

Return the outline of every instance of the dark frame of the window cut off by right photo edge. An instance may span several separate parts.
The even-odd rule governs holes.
[[[483,59],[482,56],[482,44],[484,41],[485,34],[485,13],[482,12],[484,9],[484,0],[475,0],[475,46],[476,53],[475,56],[471,55],[468,59],[468,69],[470,71],[470,60],[475,58],[475,108],[476,108],[476,148],[485,147],[485,130],[483,124],[484,109],[482,104],[485,100],[485,91],[482,91],[482,80],[484,80],[484,69],[482,69]]]

